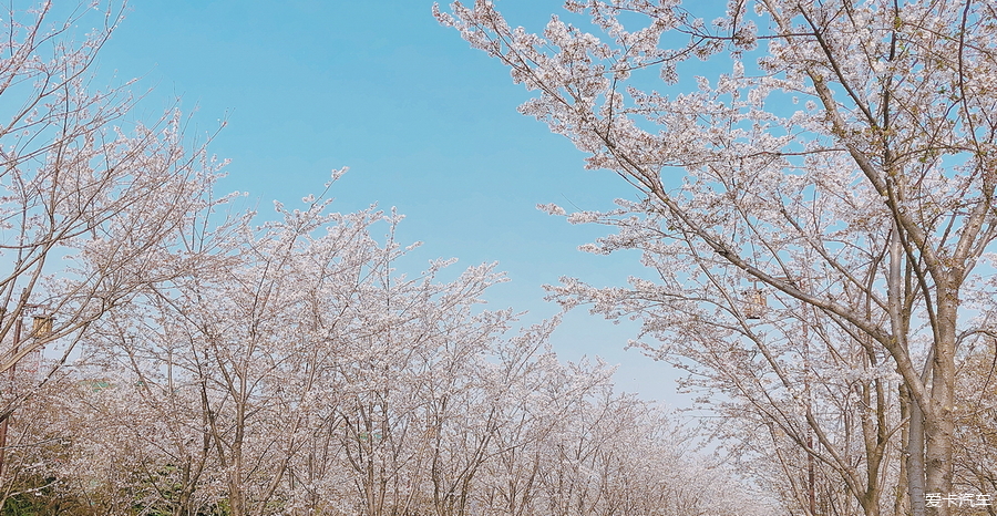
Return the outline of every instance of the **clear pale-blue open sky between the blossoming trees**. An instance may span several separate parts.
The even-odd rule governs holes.
[[[470,1],[470,0],[469,0]],[[634,254],[597,257],[577,246],[605,233],[571,226],[535,209],[611,207],[635,197],[615,175],[583,168],[583,155],[546,126],[516,113],[528,97],[496,60],[436,23],[429,0],[143,0],[134,1],[103,50],[100,80],[142,78],[134,117],[156,118],[181,97],[196,110],[197,132],[228,121],[210,145],[229,158],[227,190],[249,192],[267,215],[271,199],[296,203],[318,193],[333,168],[333,207],[378,203],[407,216],[400,240],[422,240],[428,260],[456,257],[455,268],[498,261],[511,282],[490,308],[528,310],[527,321],[557,311],[544,283],[559,276],[597,286],[639,274]],[[559,1],[503,0],[514,24],[541,30]],[[97,82],[100,83],[100,81]],[[555,336],[568,360],[600,355],[620,363],[617,383],[645,398],[683,405],[667,365],[624,352],[636,326],[613,326],[585,311]]]

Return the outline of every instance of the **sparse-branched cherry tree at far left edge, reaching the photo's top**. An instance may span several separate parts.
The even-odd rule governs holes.
[[[123,9],[40,2],[2,16],[0,476],[14,409],[88,327],[172,274],[167,257],[195,259],[197,228],[224,200],[210,192],[220,164],[192,145],[176,112],[125,122],[129,84],[92,84]],[[39,371],[45,345],[62,360]]]

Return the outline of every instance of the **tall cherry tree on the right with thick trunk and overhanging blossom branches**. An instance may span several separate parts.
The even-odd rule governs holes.
[[[816,381],[802,357],[815,343],[805,339],[846,336],[859,354],[844,354],[843,368],[868,380],[860,398],[906,402],[903,414],[867,425],[864,481],[847,481],[846,467],[842,479],[866,514],[877,514],[874,486],[860,484],[877,477],[876,448],[896,438],[896,423],[909,422],[901,429],[900,482],[914,514],[947,514],[926,508],[924,493],[952,489],[960,351],[990,331],[962,302],[993,302],[990,287],[974,291],[997,236],[991,7],[737,0],[710,12],[571,0],[565,8],[565,19],[552,18],[538,34],[510,27],[489,1],[435,9],[536,92],[522,113],[640,194],[569,220],[617,227],[586,250],[641,249],[657,281],[597,290],[566,280],[554,295],[643,319],[643,334],[660,342],[647,345],[662,358],[690,340],[719,360],[754,353],[738,375],[749,383],[783,375],[773,380],[788,399],[805,399],[801,380]],[[708,64],[697,68],[696,59]],[[809,337],[803,322],[779,328],[788,312],[805,320]],[[774,345],[782,349],[770,352]],[[888,393],[893,374],[901,386]],[[750,401],[749,391],[764,393],[758,386],[728,393]],[[778,404],[761,401],[763,413]],[[800,421],[830,451],[816,419],[803,406]]]

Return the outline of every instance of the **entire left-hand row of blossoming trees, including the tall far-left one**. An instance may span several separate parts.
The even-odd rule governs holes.
[[[0,513],[752,505],[607,367],[558,361],[556,321],[480,307],[492,266],[405,276],[394,214],[215,197],[182,120],[126,124],[126,92],[89,84],[121,12],[92,7],[2,17]]]

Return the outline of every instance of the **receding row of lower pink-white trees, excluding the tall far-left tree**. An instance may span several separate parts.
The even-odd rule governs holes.
[[[505,337],[511,311],[473,309],[502,279],[491,267],[400,276],[404,250],[370,235],[397,218],[326,204],[167,258],[176,269],[90,324],[75,367],[16,412],[9,503],[734,514],[737,486],[682,456],[662,414],[614,393],[605,365],[558,362],[553,323]]]

